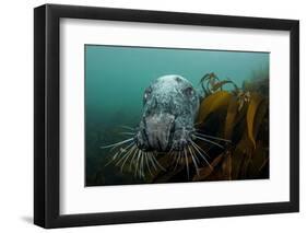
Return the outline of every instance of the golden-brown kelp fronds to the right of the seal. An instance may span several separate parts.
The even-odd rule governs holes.
[[[203,82],[209,82],[210,77],[217,80],[214,85],[229,83],[228,80],[221,81],[216,74],[205,77],[208,79],[203,79]],[[234,90],[229,91],[209,93],[206,90],[209,95],[201,102],[198,124],[202,128],[210,128],[205,125],[206,117],[221,117],[221,108],[226,108],[224,121],[221,121],[224,128],[216,128],[216,135],[224,135],[225,139],[232,140],[232,144],[222,154],[213,156],[213,171],[203,167],[193,180],[268,178],[269,101],[265,89],[269,89],[269,81],[251,80],[248,86],[246,82],[244,84],[241,89],[234,84]]]

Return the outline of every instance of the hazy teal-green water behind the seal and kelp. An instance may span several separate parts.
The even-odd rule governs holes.
[[[120,172],[109,163],[110,151],[101,149],[128,138],[120,135],[125,131],[120,126],[139,125],[143,92],[153,80],[179,74],[202,93],[201,79],[214,72],[244,86],[249,80],[269,79],[269,53],[258,51],[85,45],[85,185],[155,183]],[[232,89],[229,83],[224,85]],[[269,82],[261,92],[269,96]],[[267,171],[253,178],[268,176]],[[186,182],[178,177],[173,182],[180,180]]]

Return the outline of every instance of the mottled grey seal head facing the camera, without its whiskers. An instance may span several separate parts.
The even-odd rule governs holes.
[[[199,95],[184,77],[157,78],[143,96],[143,116],[135,137],[138,148],[180,151],[191,140]]]

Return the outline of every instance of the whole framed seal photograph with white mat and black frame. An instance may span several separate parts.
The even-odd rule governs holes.
[[[299,23],[34,10],[34,222],[299,210]]]

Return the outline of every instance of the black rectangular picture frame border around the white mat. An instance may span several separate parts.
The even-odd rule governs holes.
[[[288,31],[291,35],[290,201],[61,215],[59,213],[59,23],[63,18]],[[298,21],[45,4],[34,9],[34,223],[43,228],[299,211]]]

